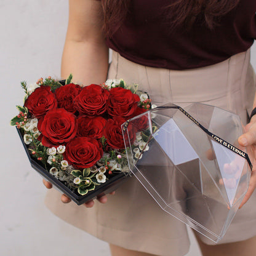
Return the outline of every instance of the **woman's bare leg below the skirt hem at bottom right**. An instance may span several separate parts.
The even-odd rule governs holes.
[[[208,246],[199,238],[196,237],[196,239],[203,256],[252,256],[256,252],[256,236],[245,241],[217,244],[215,246]]]

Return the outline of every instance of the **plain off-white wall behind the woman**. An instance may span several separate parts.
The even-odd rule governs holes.
[[[44,206],[46,188],[31,169],[10,119],[22,104],[20,81],[60,77],[68,1],[1,0],[0,255],[102,255],[108,244],[58,220]],[[256,49],[252,49],[256,66]],[[187,256],[199,256],[192,238]]]

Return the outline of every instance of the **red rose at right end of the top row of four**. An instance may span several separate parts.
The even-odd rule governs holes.
[[[111,116],[131,116],[140,102],[140,97],[130,90],[115,87],[110,90],[107,111]]]

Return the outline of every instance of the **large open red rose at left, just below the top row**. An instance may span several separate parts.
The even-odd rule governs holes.
[[[42,145],[61,145],[76,136],[75,116],[64,108],[49,110],[39,119],[38,130],[42,133]]]

